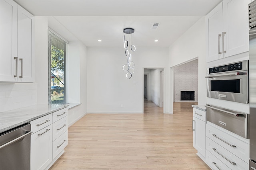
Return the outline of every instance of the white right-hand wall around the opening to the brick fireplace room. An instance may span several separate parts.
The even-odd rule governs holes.
[[[205,19],[202,17],[169,47],[169,66],[177,66],[198,57],[198,104],[206,104]],[[173,70],[170,70],[170,84]],[[170,86],[170,104],[173,102],[173,86]],[[171,106],[172,107],[172,106]]]

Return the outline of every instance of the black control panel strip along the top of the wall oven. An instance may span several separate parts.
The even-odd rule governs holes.
[[[242,62],[209,68],[209,73],[242,70]]]

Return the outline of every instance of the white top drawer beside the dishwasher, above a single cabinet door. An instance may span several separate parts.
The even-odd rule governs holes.
[[[33,120],[31,123],[31,131],[36,133],[40,129],[52,124],[52,114],[45,115],[36,120]]]

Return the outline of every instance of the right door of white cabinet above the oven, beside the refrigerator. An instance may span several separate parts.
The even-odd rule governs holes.
[[[249,51],[249,3],[250,0],[223,0],[224,57]]]

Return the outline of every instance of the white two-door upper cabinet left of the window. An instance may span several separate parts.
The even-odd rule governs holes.
[[[0,82],[33,82],[33,16],[12,0],[0,0],[0,25]]]

